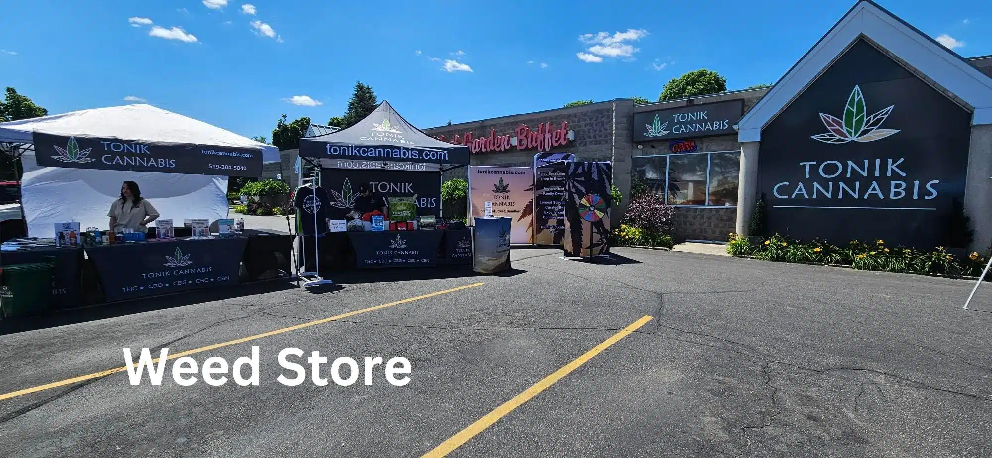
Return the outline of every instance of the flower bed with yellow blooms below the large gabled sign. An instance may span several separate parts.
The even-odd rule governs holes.
[[[976,278],[981,275],[988,261],[987,257],[974,252],[958,258],[947,253],[943,247],[932,250],[890,247],[884,240],[870,243],[853,240],[844,247],[838,247],[822,240],[812,242],[789,240],[778,234],[767,239],[758,239],[757,243],[754,238],[730,234],[727,254],[764,261],[822,264],[862,271],[950,278]]]

